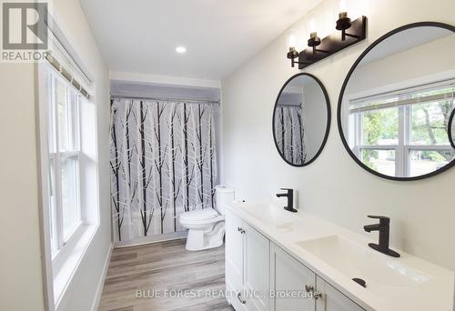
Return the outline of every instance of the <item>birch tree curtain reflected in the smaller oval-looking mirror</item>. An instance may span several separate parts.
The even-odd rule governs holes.
[[[275,118],[275,131],[281,155],[284,155],[290,163],[303,165],[307,158],[307,152],[301,106],[279,106]]]

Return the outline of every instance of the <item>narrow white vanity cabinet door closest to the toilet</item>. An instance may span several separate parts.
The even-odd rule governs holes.
[[[239,228],[243,221],[229,210],[226,211],[226,289],[228,292],[240,293],[243,289],[243,261],[244,261],[244,236]],[[236,310],[242,310],[240,299],[227,296],[229,304]]]

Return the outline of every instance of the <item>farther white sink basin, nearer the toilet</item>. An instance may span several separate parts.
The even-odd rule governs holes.
[[[285,211],[284,208],[280,209],[277,206],[268,204],[243,206],[242,210],[249,216],[253,216],[266,225],[275,226],[277,228],[286,225],[290,226],[290,224],[298,218],[294,214],[291,214],[291,212]]]

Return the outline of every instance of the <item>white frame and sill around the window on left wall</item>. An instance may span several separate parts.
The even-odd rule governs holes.
[[[66,68],[71,65],[66,64]],[[44,253],[43,278],[45,283],[46,304],[50,310],[59,309],[61,304],[66,303],[68,289],[75,280],[77,270],[86,252],[94,242],[96,233],[101,226],[100,223],[100,187],[99,187],[99,166],[98,166],[98,145],[97,145],[97,113],[96,113],[96,85],[90,83],[84,85],[89,90],[89,96],[80,92],[72,83],[73,89],[79,97],[79,170],[78,170],[78,200],[80,206],[81,223],[74,233],[66,240],[65,246],[58,254],[52,255],[51,238],[51,206],[50,194],[50,149],[51,141],[48,135],[49,128],[49,101],[52,88],[49,82],[50,75],[56,75],[66,79],[50,62],[42,62],[37,65],[37,90],[38,90],[38,131],[39,131],[39,165],[40,165],[40,226],[43,238],[42,251]],[[77,81],[82,81],[78,75]],[[66,80],[63,80],[66,81]],[[68,86],[68,85],[66,85]],[[79,92],[81,94],[79,94]],[[89,132],[88,132],[89,131]],[[67,156],[71,156],[69,153]],[[90,178],[87,179],[87,176]],[[87,188],[87,183],[90,188]]]

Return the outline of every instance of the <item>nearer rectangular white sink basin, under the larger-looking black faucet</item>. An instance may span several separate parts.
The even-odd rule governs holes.
[[[365,280],[367,288],[373,291],[417,286],[431,278],[404,265],[399,258],[383,255],[342,236],[326,236],[297,244],[344,276]]]

